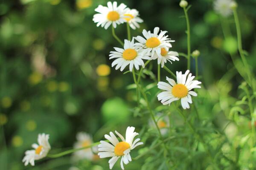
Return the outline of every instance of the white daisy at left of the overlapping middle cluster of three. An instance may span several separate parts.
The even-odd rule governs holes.
[[[124,49],[114,47],[116,51],[111,51],[109,59],[117,58],[112,62],[112,67],[116,65],[116,70],[121,68],[123,71],[124,68],[129,65],[130,71],[133,67],[139,70],[139,66],[142,65],[144,68],[144,62],[142,59],[151,59],[150,57],[144,55],[142,51],[134,45],[134,39],[131,41],[125,40]]]

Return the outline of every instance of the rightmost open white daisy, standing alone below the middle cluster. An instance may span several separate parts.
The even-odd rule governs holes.
[[[193,88],[201,88],[198,80],[193,80],[195,76],[192,76],[189,70],[182,74],[182,72],[176,71],[177,75],[177,84],[175,80],[166,77],[166,80],[170,83],[166,82],[158,82],[158,88],[165,90],[157,95],[158,100],[162,102],[163,105],[170,105],[171,102],[181,99],[181,105],[183,109],[189,108],[189,103],[192,103],[191,96],[197,96],[194,91],[191,91]]]

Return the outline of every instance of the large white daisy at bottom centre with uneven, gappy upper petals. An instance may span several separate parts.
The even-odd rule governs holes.
[[[99,152],[98,155],[100,158],[112,157],[108,161],[110,169],[112,169],[116,161],[121,157],[121,168],[124,170],[123,163],[128,164],[129,161],[131,161],[130,151],[143,144],[143,142],[139,142],[139,138],[134,140],[134,137],[139,134],[134,132],[134,130],[135,127],[127,127],[125,138],[120,133],[115,131],[116,135],[119,136],[122,142],[119,142],[113,132],[110,132],[110,136],[104,136],[109,140],[109,142],[111,142],[111,144],[105,141],[100,141],[99,151],[102,152]]]

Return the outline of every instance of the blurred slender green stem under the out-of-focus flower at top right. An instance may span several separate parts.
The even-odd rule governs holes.
[[[249,65],[247,63],[247,60],[246,60],[245,56],[244,56],[244,51],[243,51],[243,48],[242,48],[241,29],[240,29],[239,18],[238,18],[238,15],[237,15],[236,8],[233,9],[233,15],[234,15],[235,24],[236,24],[238,51],[239,51],[239,54],[241,56],[242,62],[244,64],[244,67],[245,67],[245,69],[247,71],[247,76],[248,76],[248,79],[249,79],[249,82],[250,82],[249,85],[253,88],[253,91],[254,91],[255,89],[254,89],[254,86],[252,84],[252,76],[250,74],[250,67],[249,67]]]

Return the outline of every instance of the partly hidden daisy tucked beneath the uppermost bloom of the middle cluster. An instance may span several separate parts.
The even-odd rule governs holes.
[[[169,61],[172,63],[172,61],[179,61],[179,58],[176,57],[179,56],[179,54],[175,51],[169,51],[169,48],[161,48],[160,55],[154,54],[152,59],[157,59],[157,64],[161,64],[161,67],[163,68],[164,64]],[[171,61],[172,60],[172,61]]]

